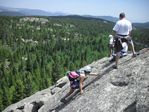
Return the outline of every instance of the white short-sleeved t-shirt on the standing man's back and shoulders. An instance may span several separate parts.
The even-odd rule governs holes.
[[[123,18],[116,22],[113,30],[119,35],[129,35],[129,32],[132,30],[132,24],[130,21]]]

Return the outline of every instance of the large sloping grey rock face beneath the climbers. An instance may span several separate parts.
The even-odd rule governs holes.
[[[84,93],[76,91],[65,103],[60,99],[69,91],[67,77],[3,112],[149,112],[149,49],[120,59],[118,69],[113,64],[108,58],[91,63],[98,75],[88,76]]]

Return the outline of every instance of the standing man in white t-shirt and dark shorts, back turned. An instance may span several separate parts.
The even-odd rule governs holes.
[[[120,56],[120,51],[123,49],[122,42],[127,42],[131,44],[133,57],[136,56],[134,44],[130,37],[132,31],[132,24],[125,18],[125,13],[120,13],[119,20],[116,22],[113,27],[114,35],[115,35],[115,52],[116,52],[116,64],[114,66],[115,69],[118,68],[118,60]]]

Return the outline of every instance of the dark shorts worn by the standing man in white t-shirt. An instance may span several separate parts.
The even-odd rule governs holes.
[[[122,43],[126,42],[127,44],[132,42],[132,39],[130,36],[127,37],[115,37],[115,52],[120,52],[123,49]]]

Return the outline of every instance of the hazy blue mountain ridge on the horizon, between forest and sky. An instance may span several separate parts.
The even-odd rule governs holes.
[[[26,8],[11,8],[0,6],[0,16],[68,16],[75,14],[66,14],[62,12],[47,12],[40,9],[26,9]],[[117,17],[112,16],[93,16],[93,15],[76,15],[87,18],[103,19],[111,22],[116,22]],[[133,23],[134,26],[149,28],[149,22],[146,23]]]

